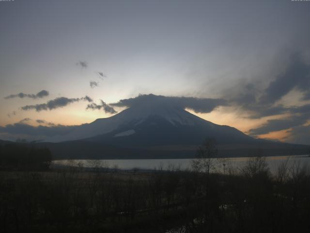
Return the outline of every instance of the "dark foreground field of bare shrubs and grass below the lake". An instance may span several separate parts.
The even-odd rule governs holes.
[[[310,173],[296,163],[273,176],[261,157],[225,175],[91,167],[1,171],[0,232],[310,232]]]

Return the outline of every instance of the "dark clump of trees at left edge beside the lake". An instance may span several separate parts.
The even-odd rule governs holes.
[[[35,148],[25,143],[0,145],[2,170],[47,170],[51,161],[52,154],[46,147]]]

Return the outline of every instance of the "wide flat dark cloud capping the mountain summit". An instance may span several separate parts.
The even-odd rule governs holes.
[[[135,98],[120,100],[117,103],[111,103],[115,107],[135,107],[141,105],[167,106],[170,108],[188,108],[195,113],[210,113],[218,106],[228,105],[223,99],[200,99],[194,97],[166,97],[153,94],[139,95]]]

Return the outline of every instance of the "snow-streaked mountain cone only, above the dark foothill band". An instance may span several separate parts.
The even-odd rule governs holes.
[[[248,143],[255,139],[229,126],[217,125],[181,108],[150,105],[130,107],[109,118],[96,119],[49,142],[85,140],[112,145],[142,146],[200,144],[206,137],[219,143]]]

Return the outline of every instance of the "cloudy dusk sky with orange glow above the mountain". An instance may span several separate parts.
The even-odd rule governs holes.
[[[292,0],[0,1],[0,139],[66,132],[154,94],[310,144],[309,12]]]

